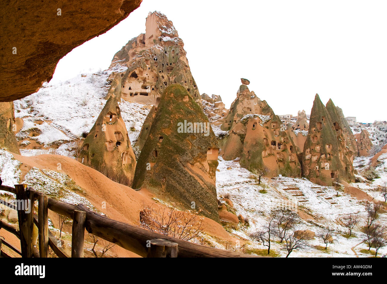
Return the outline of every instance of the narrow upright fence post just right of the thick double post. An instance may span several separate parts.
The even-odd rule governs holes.
[[[39,255],[48,257],[48,196],[38,196]]]

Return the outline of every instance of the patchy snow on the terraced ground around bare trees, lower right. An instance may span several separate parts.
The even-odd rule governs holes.
[[[278,201],[289,199],[297,202],[297,212],[302,218],[295,230],[311,230],[316,234],[316,237],[309,241],[311,247],[307,251],[294,251],[289,257],[354,257],[353,249],[361,257],[369,256],[359,252],[360,249],[366,248],[364,244],[359,245],[365,236],[360,231],[360,226],[356,228],[353,238],[346,237],[348,230],[342,226],[342,218],[351,213],[364,221],[366,217],[364,201],[353,198],[342,189],[316,185],[299,178],[262,179],[258,185],[252,173],[240,167],[238,159],[225,161],[219,156],[218,160],[219,171],[216,172],[218,198],[229,195],[236,215],[241,214],[243,218],[249,220],[249,227],[239,225],[238,230],[232,230],[232,233],[247,238],[251,242],[250,248],[267,249],[253,241],[249,234],[267,224],[269,213],[278,207]],[[387,214],[380,214],[378,221],[387,222]],[[329,244],[327,251],[319,249],[325,247],[324,241],[318,237],[324,228],[335,231],[335,241]],[[284,257],[286,253],[281,248],[282,245],[278,242],[272,243],[272,250]],[[380,249],[380,255],[385,253],[387,248]]]

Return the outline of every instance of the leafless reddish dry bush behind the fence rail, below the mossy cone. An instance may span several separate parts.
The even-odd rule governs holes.
[[[151,232],[182,240],[192,240],[203,233],[203,219],[198,213],[183,212],[172,207],[143,206],[140,211],[140,226]]]

